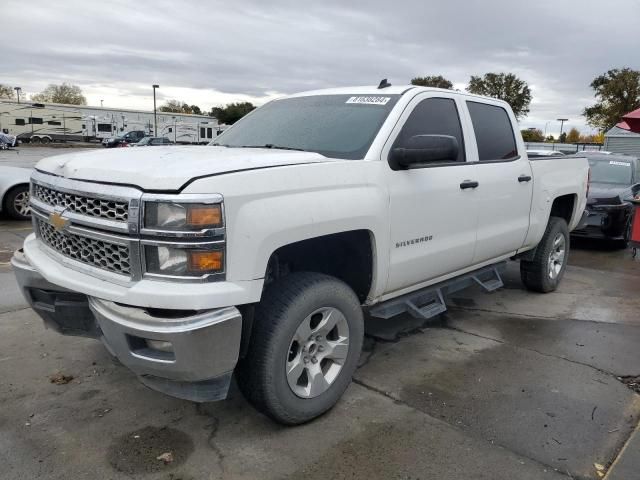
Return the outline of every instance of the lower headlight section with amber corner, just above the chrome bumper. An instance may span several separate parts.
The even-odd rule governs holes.
[[[202,277],[224,272],[223,250],[145,246],[148,273],[180,277]]]

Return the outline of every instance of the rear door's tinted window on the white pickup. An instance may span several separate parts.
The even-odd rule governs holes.
[[[513,126],[504,108],[469,101],[467,107],[481,162],[511,160],[518,156]]]

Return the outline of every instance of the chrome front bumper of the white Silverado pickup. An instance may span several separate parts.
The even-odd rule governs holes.
[[[154,390],[196,402],[226,397],[240,351],[242,316],[237,308],[185,311],[127,306],[47,281],[22,251],[15,253],[11,264],[25,298],[49,328],[101,339]]]

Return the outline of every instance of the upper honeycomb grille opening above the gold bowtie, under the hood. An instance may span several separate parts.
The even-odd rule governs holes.
[[[33,196],[47,205],[65,208],[79,215],[124,223],[129,219],[129,204],[126,201],[67,193],[37,183],[33,184]]]

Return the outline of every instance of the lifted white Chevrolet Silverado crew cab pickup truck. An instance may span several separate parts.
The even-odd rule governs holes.
[[[511,258],[529,289],[554,290],[588,170],[528,159],[499,100],[384,83],[301,93],[208,147],[40,161],[35,233],[12,263],[47,326],[100,339],[148,387],[212,401],[234,376],[298,424],[350,383],[363,312],[429,316],[434,286]]]

